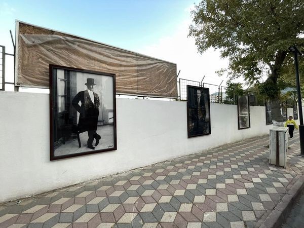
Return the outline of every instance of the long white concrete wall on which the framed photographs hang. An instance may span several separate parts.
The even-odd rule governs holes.
[[[187,138],[186,102],[117,99],[118,150],[50,161],[49,95],[0,91],[0,202],[268,134],[265,107],[211,104],[211,135]]]

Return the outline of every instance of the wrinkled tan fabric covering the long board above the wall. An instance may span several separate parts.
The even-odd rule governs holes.
[[[174,63],[20,22],[18,41],[17,85],[48,88],[56,64],[115,73],[120,94],[177,97]]]

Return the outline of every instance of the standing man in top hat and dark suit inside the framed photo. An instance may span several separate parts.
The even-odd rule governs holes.
[[[93,92],[94,79],[87,79],[87,90],[79,92],[72,100],[73,107],[80,113],[78,130],[80,132],[88,132],[88,147],[90,149],[95,149],[93,146],[93,140],[95,138],[95,146],[98,145],[100,140],[100,135],[97,134],[97,121],[99,115],[99,104],[100,100],[96,93]],[[81,106],[79,105],[81,101]]]

